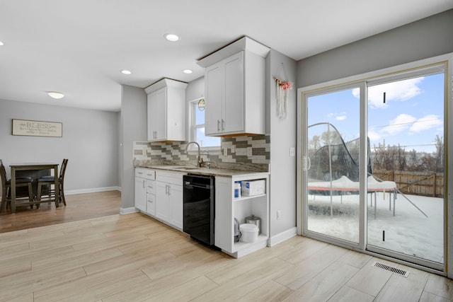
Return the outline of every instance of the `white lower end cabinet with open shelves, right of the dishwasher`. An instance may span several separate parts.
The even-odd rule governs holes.
[[[255,196],[234,198],[234,182],[265,180],[265,192]],[[241,177],[215,178],[215,236],[214,245],[233,257],[242,257],[268,245],[269,238],[269,195],[268,173],[241,175]],[[246,223],[247,216],[261,219],[261,234],[253,243],[234,241],[234,219]]]

